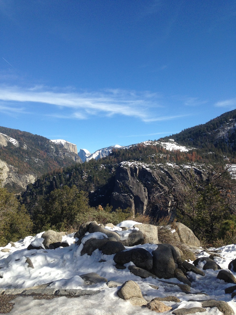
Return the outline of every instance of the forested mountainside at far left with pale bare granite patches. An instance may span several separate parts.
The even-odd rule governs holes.
[[[3,185],[14,192],[25,189],[53,169],[81,162],[77,149],[16,129],[0,127],[0,167]]]

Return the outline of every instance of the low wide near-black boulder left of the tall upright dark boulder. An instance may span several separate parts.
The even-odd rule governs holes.
[[[151,270],[152,269],[152,255],[144,248],[133,248],[115,254],[114,261],[118,265],[124,265],[132,261],[135,266]]]

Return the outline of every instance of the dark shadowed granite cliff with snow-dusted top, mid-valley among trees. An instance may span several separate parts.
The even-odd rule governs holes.
[[[203,165],[200,164],[199,167],[190,168],[186,164],[179,166],[172,163],[122,162],[116,170],[111,204],[114,209],[130,207],[133,213],[144,215],[148,210],[154,187],[157,193],[164,192],[171,197],[170,187],[173,185],[177,185],[180,191],[186,190],[191,172],[194,172],[199,179],[205,180],[207,169],[206,167],[200,169],[201,167]],[[173,207],[170,207],[170,211],[173,210],[174,203]]]

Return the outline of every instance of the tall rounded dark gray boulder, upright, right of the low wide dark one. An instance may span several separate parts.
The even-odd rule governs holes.
[[[158,244],[158,248],[152,252],[153,266],[151,272],[158,278],[174,278],[175,261],[171,248],[165,244]]]

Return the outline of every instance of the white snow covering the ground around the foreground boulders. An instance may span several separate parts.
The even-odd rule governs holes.
[[[93,234],[93,237],[101,238],[99,232]],[[48,288],[90,289],[100,290],[100,293],[93,296],[86,295],[69,299],[66,297],[58,297],[52,300],[34,300],[33,297],[19,296],[11,301],[12,303],[15,303],[15,305],[10,314],[155,314],[154,311],[151,311],[148,308],[132,306],[129,301],[119,298],[116,292],[120,287],[108,288],[106,283],[98,283],[89,286],[85,285],[83,279],[80,278],[79,275],[88,272],[96,272],[101,277],[107,278],[108,281],[115,280],[122,283],[127,280],[136,281],[142,290],[143,297],[149,301],[155,297],[174,295],[178,297],[181,302],[164,302],[173,309],[195,306],[201,307],[200,302],[188,302],[190,299],[215,299],[228,302],[236,314],[236,298],[231,299],[231,294],[225,294],[224,292],[225,288],[233,284],[228,284],[223,280],[216,279],[219,272],[218,270],[205,270],[204,277],[189,272],[189,276],[194,279],[194,281],[192,282],[191,288],[192,294],[186,294],[182,292],[178,286],[165,284],[158,279],[151,277],[142,279],[135,276],[130,273],[128,268],[123,270],[116,269],[115,262],[113,261],[114,255],[102,255],[102,252],[98,249],[96,249],[91,256],[88,256],[87,254],[81,256],[80,253],[83,248],[83,243],[81,243],[80,246],[74,244],[74,242],[78,240],[77,238],[74,238],[74,234],[63,237],[63,242],[68,243],[69,247],[47,250],[27,250],[27,246],[32,243],[32,241],[34,241],[35,246],[42,246],[43,238],[41,238],[41,235],[42,233],[37,234],[34,237],[28,236],[23,240],[15,242],[15,247],[11,247],[11,245],[8,244],[4,248],[9,248],[9,253],[0,251],[0,276],[3,277],[0,279],[0,288],[29,288],[53,281]],[[90,237],[91,234],[88,235],[88,238]],[[125,237],[125,235],[122,237]],[[149,250],[149,252],[152,252],[157,246],[158,245],[144,244],[136,247],[142,247]],[[0,247],[0,250],[1,249],[3,249],[3,247]],[[129,247],[129,249],[131,248]],[[200,250],[201,249],[199,249],[199,252]],[[223,258],[215,257],[214,260],[222,267],[222,269],[228,271],[228,264],[235,259],[236,256],[236,245],[223,246],[218,250],[220,250],[218,254]],[[209,254],[204,252],[197,255],[197,257],[201,256],[209,256]],[[27,263],[25,263],[26,257],[30,257],[34,269],[28,268]],[[105,262],[98,262],[101,259],[105,260]],[[131,264],[132,263],[128,263],[126,265],[128,267]],[[202,263],[199,263],[199,268],[201,268],[201,264]],[[236,275],[234,274],[234,276]],[[176,278],[161,280],[175,283],[179,282]],[[157,285],[159,289],[153,289],[149,284]],[[199,292],[204,292],[207,295],[197,294]],[[171,314],[172,311],[166,311],[163,314]],[[214,307],[206,308],[205,312],[195,313],[195,315],[200,314],[218,315],[222,313]]]

